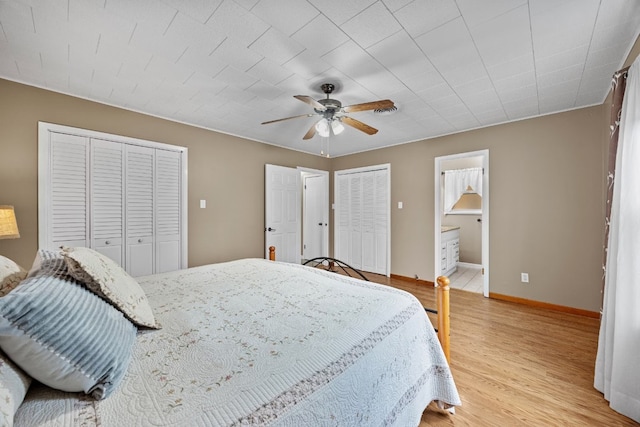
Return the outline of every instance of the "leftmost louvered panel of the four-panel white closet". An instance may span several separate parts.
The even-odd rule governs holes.
[[[50,133],[48,249],[89,246],[89,139]]]

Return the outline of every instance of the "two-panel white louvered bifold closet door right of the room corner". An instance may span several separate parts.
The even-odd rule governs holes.
[[[336,176],[336,258],[378,274],[388,274],[388,173],[385,168]]]

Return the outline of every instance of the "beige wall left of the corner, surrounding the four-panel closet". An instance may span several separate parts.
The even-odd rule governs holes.
[[[319,156],[0,79],[0,204],[15,206],[21,235],[0,240],[0,254],[25,268],[38,244],[38,121],[188,147],[190,266],[264,256],[265,163],[329,169]]]

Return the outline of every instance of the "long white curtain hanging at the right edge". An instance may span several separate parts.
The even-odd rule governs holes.
[[[640,422],[640,62],[629,69],[611,206],[596,389]]]

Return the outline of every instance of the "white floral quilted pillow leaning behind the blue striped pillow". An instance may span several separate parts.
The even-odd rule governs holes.
[[[84,247],[62,248],[69,274],[109,301],[133,323],[159,329],[138,282],[111,258]]]

